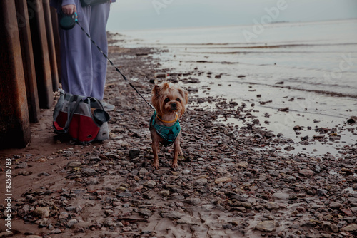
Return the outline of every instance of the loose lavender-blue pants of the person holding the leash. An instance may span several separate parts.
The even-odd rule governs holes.
[[[106,22],[110,3],[81,7],[75,0],[79,24],[104,53],[108,53]],[[61,81],[66,93],[103,99],[106,82],[106,58],[76,25],[59,29],[61,38]]]

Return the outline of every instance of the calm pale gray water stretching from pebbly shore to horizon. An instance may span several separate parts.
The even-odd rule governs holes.
[[[338,128],[357,115],[357,19],[276,23],[261,28],[126,31],[120,32],[125,41],[119,46],[166,49],[156,56],[161,68],[175,73],[195,72],[195,68],[203,72],[193,73],[201,83],[189,85],[200,88],[199,96],[254,103],[256,116],[263,120],[266,113],[271,115],[265,125],[268,130],[297,140],[294,125]],[[261,104],[269,100],[272,102]],[[286,107],[290,113],[276,113]],[[346,133],[341,140],[356,144],[356,135]]]

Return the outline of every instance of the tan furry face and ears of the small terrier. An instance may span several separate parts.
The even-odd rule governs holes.
[[[185,112],[185,106],[188,103],[188,92],[184,88],[170,86],[169,83],[163,82],[154,86],[151,93],[151,103],[159,115],[176,112],[181,117]]]

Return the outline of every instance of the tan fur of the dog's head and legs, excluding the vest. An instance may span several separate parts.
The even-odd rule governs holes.
[[[154,105],[156,110],[156,114],[161,118],[161,120],[165,121],[174,121],[176,118],[176,114],[178,118],[181,118],[181,115],[186,110],[186,104],[188,103],[188,92],[184,88],[178,86],[170,86],[168,82],[163,82],[160,85],[154,86],[151,91],[151,103]],[[164,123],[160,120],[156,120],[158,125],[171,126],[174,125],[175,122]],[[154,152],[154,162],[153,165],[156,169],[159,166],[159,143],[164,141],[154,127],[150,125],[150,133],[152,144],[151,147]],[[182,154],[182,150],[180,147],[180,138],[181,132],[178,134],[176,140],[174,141],[174,160],[172,161],[172,168],[177,167],[177,157],[178,154]]]

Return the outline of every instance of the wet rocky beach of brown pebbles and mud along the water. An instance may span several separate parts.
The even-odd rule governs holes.
[[[256,94],[253,100],[209,95],[224,72],[203,69],[203,61],[189,71],[163,68],[162,49],[122,48],[111,38],[109,58],[146,99],[163,80],[154,78],[158,72],[188,88],[177,170],[170,167],[171,147],[161,146],[158,170],[151,165],[153,111],[109,65],[104,100],[116,105],[109,140],[78,145],[60,138],[51,128],[52,110],[43,110],[27,148],[0,151],[0,180],[6,158],[12,175],[11,212],[1,187],[0,237],[357,236],[356,118],[268,130],[271,118],[291,110],[279,102],[260,115],[257,106],[275,99],[256,93],[256,83],[239,88]],[[202,85],[203,76],[216,84]],[[303,99],[286,103],[294,100]],[[315,146],[337,152],[303,149]],[[7,214],[11,233],[2,224]]]

